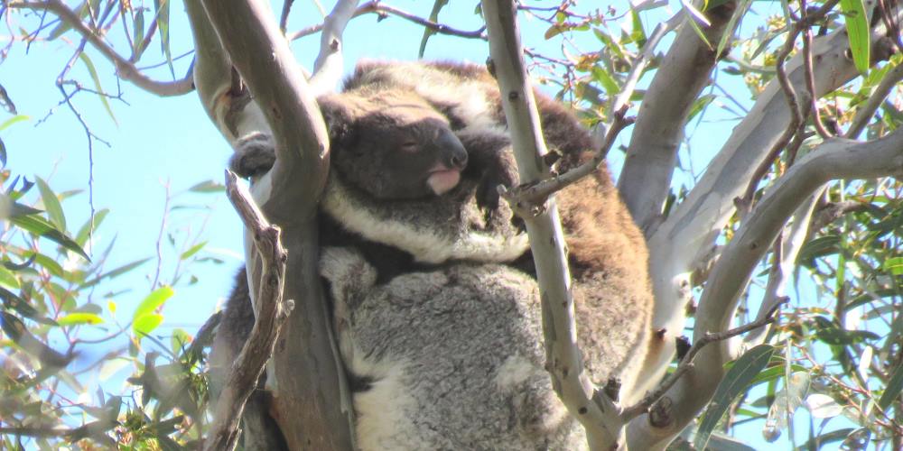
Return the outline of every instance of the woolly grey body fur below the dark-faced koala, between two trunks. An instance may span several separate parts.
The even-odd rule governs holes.
[[[363,450],[585,449],[582,427],[543,369],[535,280],[494,263],[457,263],[377,284],[353,248],[328,247],[343,361]]]

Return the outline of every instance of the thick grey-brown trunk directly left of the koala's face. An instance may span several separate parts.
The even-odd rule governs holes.
[[[286,272],[293,275],[284,297],[298,299],[299,311],[284,327],[267,373],[274,417],[291,449],[349,449],[352,411],[317,273],[316,206],[329,166],[326,126],[267,2],[204,0],[203,5],[254,96],[249,108],[226,110],[259,107],[275,141],[275,166],[253,189],[266,217],[283,230]],[[252,294],[261,275],[253,257],[246,250]]]

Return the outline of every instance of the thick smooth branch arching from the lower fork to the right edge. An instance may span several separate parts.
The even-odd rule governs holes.
[[[903,130],[869,143],[833,139],[796,162],[768,189],[725,246],[700,299],[694,336],[728,328],[751,272],[807,196],[831,179],[888,176],[903,176]],[[694,368],[666,393],[673,401],[670,417],[675,421],[656,427],[645,415],[634,419],[628,427],[630,447],[660,449],[666,445],[711,399],[724,375],[723,364],[733,355],[726,343],[701,350]]]

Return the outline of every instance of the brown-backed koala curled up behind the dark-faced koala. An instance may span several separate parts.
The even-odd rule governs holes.
[[[488,70],[460,62],[373,61],[358,64],[345,86],[417,93],[449,117],[468,152],[482,155],[479,164],[489,164],[507,186],[519,183],[498,85]],[[559,156],[556,169],[571,170],[591,158],[591,137],[576,117],[538,91],[535,99],[546,144]],[[617,376],[620,400],[636,401],[645,388],[638,383],[639,368],[649,346],[656,345],[646,241],[607,170],[596,170],[556,199],[573,276],[578,337],[588,355],[584,364],[597,383]],[[535,273],[532,257],[525,255],[512,264]],[[476,255],[462,260],[480,261]]]

